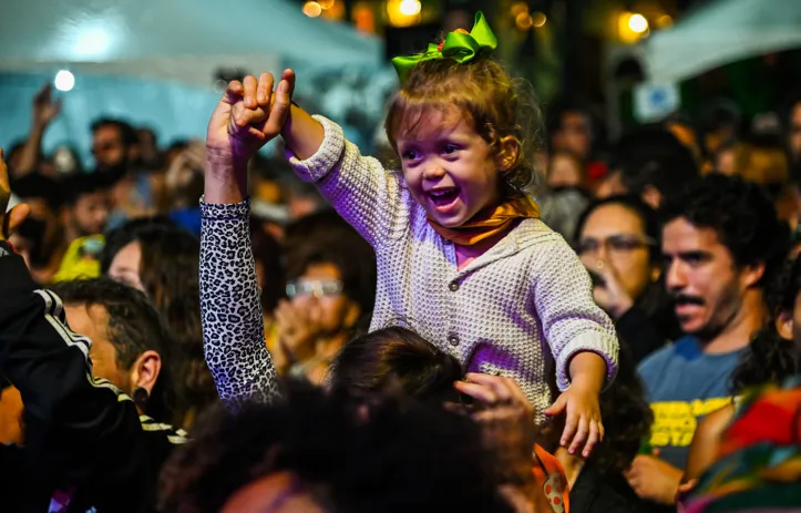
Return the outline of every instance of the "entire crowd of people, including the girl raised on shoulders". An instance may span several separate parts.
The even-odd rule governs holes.
[[[0,511],[799,511],[801,96],[604,147],[482,23],[393,62],[390,158],[288,70],[205,142],[99,120],[84,170],[42,89],[0,152]]]

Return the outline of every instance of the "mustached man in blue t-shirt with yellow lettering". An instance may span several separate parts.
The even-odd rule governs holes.
[[[764,322],[763,285],[788,230],[759,186],[722,175],[690,184],[663,222],[666,285],[687,335],[639,366],[654,454],[637,456],[627,479],[640,497],[672,504],[699,419],[731,400],[731,372]]]

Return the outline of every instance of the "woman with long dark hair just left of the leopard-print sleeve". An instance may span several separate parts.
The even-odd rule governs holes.
[[[145,293],[162,314],[175,340],[175,376],[182,401],[173,421],[188,429],[199,410],[217,399],[203,357],[196,237],[170,222],[133,222],[112,232],[109,261],[112,278]]]

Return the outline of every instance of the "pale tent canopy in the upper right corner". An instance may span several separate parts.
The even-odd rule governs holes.
[[[678,82],[770,52],[801,48],[801,1],[718,0],[644,42],[654,82]]]

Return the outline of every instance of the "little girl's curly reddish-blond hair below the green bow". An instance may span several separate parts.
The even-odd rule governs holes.
[[[497,61],[477,57],[459,63],[430,59],[417,64],[390,101],[387,137],[397,152],[404,132],[414,132],[429,109],[456,107],[495,153],[501,141],[513,136],[518,152],[512,166],[500,174],[504,196],[521,196],[537,177],[534,156],[540,148],[542,113],[531,84],[515,80]]]

